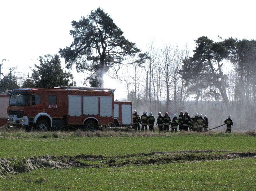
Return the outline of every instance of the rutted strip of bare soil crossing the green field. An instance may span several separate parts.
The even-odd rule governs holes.
[[[25,173],[39,168],[102,168],[129,165],[160,165],[221,159],[256,157],[256,152],[179,151],[151,152],[134,155],[104,157],[101,155],[41,156],[27,159],[0,159],[0,175]]]

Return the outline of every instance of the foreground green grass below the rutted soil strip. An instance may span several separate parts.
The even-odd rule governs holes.
[[[255,190],[256,159],[120,168],[39,169],[0,179],[1,190]]]

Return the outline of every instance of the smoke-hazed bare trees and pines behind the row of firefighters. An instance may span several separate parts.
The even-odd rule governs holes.
[[[152,42],[145,64],[149,99],[145,100],[144,68],[133,66],[122,68],[128,100],[140,112],[189,110],[191,115],[210,115],[213,121],[232,114],[237,128],[255,130],[248,113],[256,111],[256,41],[220,38],[214,42],[202,36],[195,42],[191,57],[186,48],[164,45],[156,49]],[[129,73],[133,69],[136,73]]]

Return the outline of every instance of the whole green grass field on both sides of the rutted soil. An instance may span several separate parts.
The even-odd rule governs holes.
[[[85,165],[81,168],[5,174],[1,190],[256,190],[256,159],[227,157],[233,152],[255,153],[253,133],[95,132],[87,137],[77,132],[4,132],[0,144],[0,157],[15,157],[15,163],[45,155],[105,157],[75,159]],[[175,153],[180,151],[184,153]]]

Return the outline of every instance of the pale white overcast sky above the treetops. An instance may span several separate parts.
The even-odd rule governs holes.
[[[200,36],[218,41],[222,38],[256,39],[254,1],[63,1],[3,0],[0,1],[0,63],[1,72],[16,67],[16,75],[32,72],[36,59],[58,53],[59,48],[73,41],[71,21],[79,21],[90,11],[101,7],[111,15],[124,36],[143,52],[154,39],[155,46],[186,44],[192,53]],[[63,63],[63,67],[65,67]],[[1,76],[3,78],[3,76]],[[76,75],[77,85],[83,81]],[[115,87],[112,87],[115,88]]]

